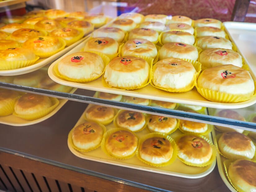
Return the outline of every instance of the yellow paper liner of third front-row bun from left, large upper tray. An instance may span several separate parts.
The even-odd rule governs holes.
[[[196,81],[197,81],[197,78],[201,72],[201,63],[197,62],[197,61],[193,61],[193,60],[190,60],[190,59],[183,59],[183,60],[186,60],[188,62],[191,62],[191,64],[194,66],[195,70],[196,70],[196,74],[194,74],[194,77],[193,77],[193,80],[192,82],[193,83],[190,83],[188,86],[186,87],[183,87],[183,88],[180,88],[180,89],[173,89],[173,88],[170,88],[170,89],[166,89],[166,88],[163,88],[163,87],[158,87],[158,86],[155,86],[154,83],[152,81],[150,81],[150,84],[157,88],[157,89],[161,89],[161,90],[164,90],[166,92],[173,92],[173,93],[184,93],[184,92],[189,92],[191,91],[195,85],[196,85]],[[150,77],[151,77],[151,80],[153,78],[153,71],[155,70],[155,65],[153,66],[152,68],[152,71],[150,71]],[[192,84],[192,85],[191,85]]]

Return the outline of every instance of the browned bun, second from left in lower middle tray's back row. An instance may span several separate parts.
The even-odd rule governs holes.
[[[141,130],[146,123],[145,116],[142,113],[128,110],[120,111],[115,121],[118,127],[131,131]]]

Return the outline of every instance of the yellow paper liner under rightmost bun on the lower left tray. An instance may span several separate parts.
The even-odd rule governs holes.
[[[13,115],[29,121],[44,117],[45,115],[51,113],[59,105],[58,99],[54,97],[50,97],[50,100],[52,101],[52,106],[49,107],[48,109],[42,110],[38,113],[28,114],[28,115],[19,115],[19,114],[16,114],[16,112],[14,112]]]

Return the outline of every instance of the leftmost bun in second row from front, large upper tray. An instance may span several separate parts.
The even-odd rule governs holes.
[[[116,54],[119,44],[115,39],[109,37],[91,38],[86,42],[84,51],[97,51],[106,55]]]

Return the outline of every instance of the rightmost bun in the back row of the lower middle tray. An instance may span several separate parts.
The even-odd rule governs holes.
[[[199,123],[194,121],[180,120],[179,128],[185,132],[204,133],[208,129],[206,123]]]

